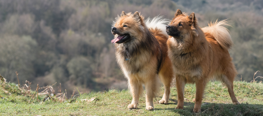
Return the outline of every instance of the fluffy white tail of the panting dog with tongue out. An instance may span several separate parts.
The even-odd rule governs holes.
[[[147,18],[146,19],[146,26],[149,28],[149,29],[159,29],[163,35],[165,35],[166,37],[168,37],[168,34],[166,33],[166,25],[168,23],[170,23],[170,21],[168,19],[165,19],[163,16],[156,16],[156,17],[153,17],[153,18]]]

